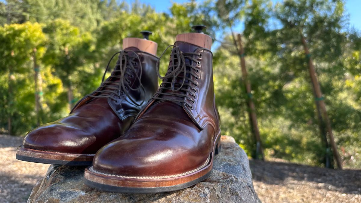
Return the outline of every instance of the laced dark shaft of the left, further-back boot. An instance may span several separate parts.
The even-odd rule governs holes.
[[[135,47],[119,52],[117,65],[110,76],[96,91],[79,100],[70,113],[84,104],[107,98],[109,107],[119,119],[135,117],[158,88],[157,60],[158,57]]]

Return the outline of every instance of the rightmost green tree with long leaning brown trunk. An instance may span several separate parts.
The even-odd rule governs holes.
[[[341,31],[344,20],[343,7],[343,1],[341,0],[287,0],[284,4],[277,5],[277,12],[275,13],[277,19],[282,23],[283,27],[280,29],[280,33],[284,36],[285,43],[289,45],[287,48],[297,49],[297,47],[303,46],[305,50],[315,100],[317,107],[320,107],[317,111],[319,114],[322,113],[323,117],[323,120],[319,121],[319,126],[322,132],[323,121],[325,121],[332,152],[334,153],[338,168],[341,169],[341,160],[334,141],[321,88],[319,87],[317,77],[315,77],[316,73],[314,72],[307,42],[312,42],[313,47],[317,47],[311,50],[312,53],[315,53],[316,60],[319,58],[325,62],[336,62],[337,58],[342,55],[344,39],[344,34]],[[321,118],[320,116],[318,117]],[[323,138],[322,140],[325,143],[325,147],[327,147],[327,139]]]

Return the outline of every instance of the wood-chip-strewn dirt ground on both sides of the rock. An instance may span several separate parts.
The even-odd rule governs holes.
[[[26,202],[49,165],[15,159],[22,138],[0,135],[0,202]],[[277,161],[250,160],[262,202],[361,202],[361,170],[342,171]]]

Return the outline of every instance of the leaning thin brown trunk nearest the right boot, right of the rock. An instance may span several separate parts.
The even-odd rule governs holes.
[[[242,39],[241,39],[240,34],[237,35],[237,41],[238,41],[238,46],[239,46],[238,52],[239,52],[239,57],[240,57],[240,61],[241,61],[242,79],[243,79],[244,86],[246,88],[247,95],[248,95],[248,107],[249,107],[248,113],[249,113],[249,117],[251,120],[252,132],[253,132],[253,135],[255,136],[255,139],[257,142],[256,159],[258,159],[259,158],[258,156],[261,155],[261,159],[264,160],[260,130],[258,129],[256,107],[255,107],[255,103],[253,103],[253,99],[252,99],[251,83],[248,81],[247,70],[246,70],[246,65],[245,65],[245,60],[244,60],[244,50],[243,50]]]

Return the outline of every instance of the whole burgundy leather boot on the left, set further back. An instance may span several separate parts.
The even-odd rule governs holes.
[[[91,165],[101,147],[129,129],[158,88],[158,58],[135,47],[118,53],[117,65],[108,79],[104,81],[109,64],[100,87],[79,100],[69,116],[26,135],[16,152],[18,160]]]

